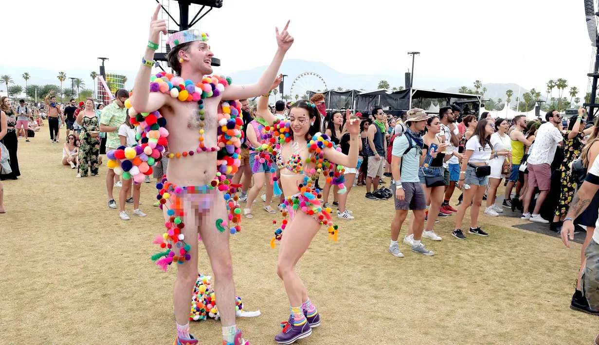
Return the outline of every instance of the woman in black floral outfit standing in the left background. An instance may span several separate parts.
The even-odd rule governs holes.
[[[81,126],[81,144],[79,146],[79,173],[78,178],[87,177],[89,169],[92,176],[98,175],[98,155],[100,154],[100,124],[95,111],[93,100],[88,98],[85,110],[79,112],[75,122]]]

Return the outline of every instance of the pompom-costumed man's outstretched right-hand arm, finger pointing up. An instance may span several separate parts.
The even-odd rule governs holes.
[[[287,32],[288,26],[289,20],[287,21],[287,25],[285,25],[283,32],[279,33],[279,28],[276,28],[278,45],[277,53],[274,54],[273,61],[270,63],[270,65],[268,65],[268,68],[266,71],[264,71],[264,74],[262,74],[262,77],[260,77],[258,83],[250,85],[232,84],[225,88],[225,91],[223,91],[223,99],[244,99],[256,97],[270,91],[269,87],[273,84],[273,80],[275,80],[277,77],[277,72],[279,72],[279,68],[283,62],[283,57],[285,57],[285,53],[287,53],[291,45],[294,43],[294,38],[289,35],[289,32]]]

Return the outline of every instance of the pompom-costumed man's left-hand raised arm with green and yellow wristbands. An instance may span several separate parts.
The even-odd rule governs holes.
[[[158,43],[160,40],[160,33],[167,35],[167,24],[164,19],[158,19],[158,12],[160,11],[161,5],[156,7],[154,15],[152,16],[152,22],[150,22],[150,38],[149,41]],[[146,53],[144,53],[144,59],[146,61],[154,60],[154,52],[150,47],[146,47]],[[146,66],[141,64],[140,69],[135,76],[135,83],[133,89],[135,90],[131,97],[131,106],[137,109],[139,112],[150,112],[155,111],[165,103],[165,97],[162,93],[152,93],[150,95],[150,76],[152,75],[152,66]]]

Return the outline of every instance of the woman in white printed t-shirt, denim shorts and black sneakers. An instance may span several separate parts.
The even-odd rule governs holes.
[[[494,132],[493,121],[488,119],[480,120],[476,125],[476,129],[474,129],[474,135],[466,142],[466,157],[462,160],[458,181],[458,188],[464,188],[464,202],[458,208],[458,213],[455,216],[455,228],[452,232],[452,236],[458,240],[466,239],[461,227],[466,210],[470,207],[470,202],[472,202],[472,209],[470,211],[470,230],[468,230],[468,233],[489,236],[478,226],[480,205],[491,173],[488,162],[508,153],[506,151],[493,151],[491,135]]]

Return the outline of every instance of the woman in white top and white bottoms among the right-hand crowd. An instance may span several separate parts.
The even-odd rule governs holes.
[[[512,141],[507,135],[507,130],[510,129],[509,123],[503,118],[495,120],[495,130],[497,132],[491,135],[491,146],[494,151],[507,152],[505,155],[498,155],[497,159],[489,161],[491,167],[491,175],[489,175],[489,190],[487,191],[487,205],[485,214],[489,216],[498,216],[499,212],[503,212],[501,205],[495,204],[495,196],[497,187],[501,184],[501,180],[506,177],[503,173],[503,166],[507,166],[507,174],[509,175],[512,169]]]

